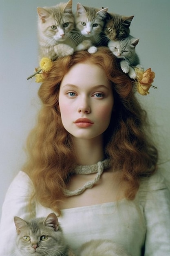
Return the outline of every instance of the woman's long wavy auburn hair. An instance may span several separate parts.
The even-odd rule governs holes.
[[[146,135],[146,112],[135,97],[134,82],[121,71],[110,50],[99,47],[94,54],[81,51],[58,58],[38,91],[42,108],[27,140],[29,154],[23,168],[35,187],[34,198],[54,211],[58,211],[57,201],[63,198],[76,165],[72,138],[60,116],[60,83],[73,65],[86,61],[101,67],[112,83],[114,106],[104,132],[104,152],[113,170],[119,170],[122,180],[128,183],[125,197],[134,199],[140,178],[156,169],[157,149]]]

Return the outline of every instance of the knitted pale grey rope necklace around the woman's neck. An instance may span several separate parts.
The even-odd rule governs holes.
[[[97,164],[93,165],[77,165],[73,171],[75,174],[91,174],[91,173],[97,173],[94,180],[88,181],[82,186],[82,188],[76,189],[75,191],[71,191],[68,189],[64,190],[64,195],[66,197],[72,196],[72,195],[79,195],[82,194],[86,189],[91,189],[94,184],[98,182],[100,179],[104,169],[107,169],[110,167],[110,160],[105,159],[104,161],[99,161]]]

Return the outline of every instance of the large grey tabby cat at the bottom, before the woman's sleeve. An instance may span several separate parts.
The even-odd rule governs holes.
[[[17,247],[23,256],[75,256],[66,245],[55,213],[29,221],[14,217]],[[18,255],[18,254],[17,254]]]

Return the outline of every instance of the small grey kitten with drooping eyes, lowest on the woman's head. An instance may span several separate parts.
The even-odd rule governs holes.
[[[135,47],[139,43],[139,38],[128,36],[124,40],[109,40],[108,48],[120,60],[120,66],[124,73],[128,73],[130,78],[135,79],[136,74],[132,66],[142,67],[139,57],[135,52]]]

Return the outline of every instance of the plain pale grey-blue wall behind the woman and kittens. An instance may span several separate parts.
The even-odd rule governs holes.
[[[170,182],[170,1],[84,0],[85,6],[108,7],[109,12],[135,15],[131,35],[141,64],[151,67],[157,90],[139,96],[148,110],[152,133],[160,150],[163,174]],[[35,79],[27,81],[38,66],[38,6],[55,0],[1,0],[0,8],[0,208],[7,188],[24,162],[24,144],[39,108]],[[75,9],[77,2],[73,0]],[[169,183],[170,184],[170,183]]]

